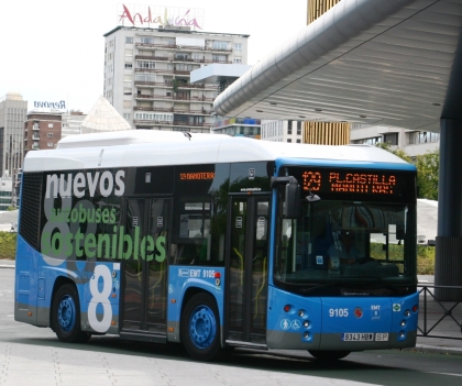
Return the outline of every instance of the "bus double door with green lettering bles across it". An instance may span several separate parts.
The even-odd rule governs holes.
[[[125,201],[120,256],[123,258],[120,318],[123,338],[166,341],[170,208],[169,198],[130,198]],[[118,253],[121,253],[120,246]],[[160,339],[153,335],[160,335]]]

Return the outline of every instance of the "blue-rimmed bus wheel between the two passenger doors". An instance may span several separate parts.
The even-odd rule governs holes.
[[[182,315],[182,342],[187,353],[197,361],[217,361],[222,357],[220,319],[215,298],[206,293],[193,296]]]

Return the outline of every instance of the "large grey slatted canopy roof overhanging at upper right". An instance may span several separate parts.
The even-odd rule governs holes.
[[[342,0],[215,102],[223,117],[439,131],[461,119],[462,0]]]

